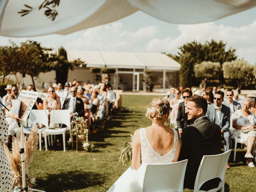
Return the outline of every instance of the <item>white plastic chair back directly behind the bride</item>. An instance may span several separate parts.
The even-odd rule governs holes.
[[[148,164],[142,192],[183,192],[188,160],[170,164]]]

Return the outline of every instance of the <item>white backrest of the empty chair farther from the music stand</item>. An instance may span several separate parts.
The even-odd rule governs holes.
[[[51,110],[50,114],[50,122],[51,123],[62,123],[67,126],[69,130],[71,130],[70,125],[70,110]]]

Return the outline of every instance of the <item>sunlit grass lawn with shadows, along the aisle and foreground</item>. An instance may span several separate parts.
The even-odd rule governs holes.
[[[118,152],[130,140],[130,134],[151,124],[145,112],[153,97],[122,96],[124,109],[106,125],[106,129],[90,137],[95,152],[71,149],[63,152],[62,148],[50,148],[47,152],[38,150],[29,169],[29,175],[36,178],[34,188],[46,192],[106,192],[128,168],[128,165],[118,163]],[[236,163],[231,162],[231,169],[226,171],[230,192],[256,191],[256,168],[244,164],[244,154],[244,149],[238,150]]]

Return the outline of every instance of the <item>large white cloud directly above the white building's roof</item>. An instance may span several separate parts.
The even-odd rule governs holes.
[[[136,31],[123,30],[123,24],[115,22],[86,30],[82,37],[68,43],[65,48],[67,50],[134,51],[140,44],[144,45],[152,39],[156,32],[156,26],[143,27]],[[146,42],[143,43],[145,40]]]

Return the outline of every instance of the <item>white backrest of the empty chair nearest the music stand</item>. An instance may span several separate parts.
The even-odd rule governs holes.
[[[48,128],[48,110],[32,109],[28,118],[28,126],[32,127],[33,124],[40,123]]]

